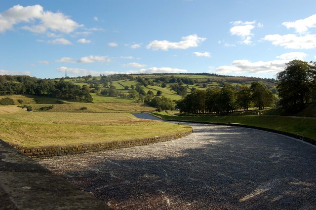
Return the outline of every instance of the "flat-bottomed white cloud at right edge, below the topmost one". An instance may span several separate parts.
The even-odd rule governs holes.
[[[287,49],[313,49],[316,48],[316,35],[294,34],[288,35],[266,35],[263,40],[271,41],[272,44],[282,46]]]

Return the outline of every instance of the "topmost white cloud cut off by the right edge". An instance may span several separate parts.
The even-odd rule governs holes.
[[[283,22],[282,25],[287,29],[294,28],[299,34],[305,34],[308,32],[309,28],[315,28],[316,14],[294,22]]]

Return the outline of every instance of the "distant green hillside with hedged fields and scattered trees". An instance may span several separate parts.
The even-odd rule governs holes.
[[[226,83],[233,86],[246,85],[251,86],[252,82],[260,82],[267,88],[276,93],[275,79],[262,79],[257,77],[235,77],[223,76],[217,74],[200,73],[200,74],[114,74],[102,75],[97,77],[83,76],[77,78],[66,77],[65,81],[72,82],[86,87],[93,97],[93,102],[108,102],[107,96],[117,96],[116,100],[125,100],[122,98],[131,98],[131,90],[136,86],[140,87],[144,92],[153,92],[153,96],[166,97],[171,100],[180,100],[182,96],[191,93],[194,90],[207,90],[214,87],[223,87]],[[111,92],[112,91],[112,92]],[[160,91],[161,95],[157,95]],[[140,91],[138,91],[141,93]],[[135,100],[143,101],[140,98]]]

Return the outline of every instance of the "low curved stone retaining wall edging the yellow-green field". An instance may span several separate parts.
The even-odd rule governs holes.
[[[44,157],[72,155],[72,154],[80,154],[80,153],[86,153],[86,152],[96,152],[96,151],[102,151],[102,150],[121,149],[121,148],[133,147],[133,146],[147,145],[151,143],[158,143],[162,141],[179,139],[181,137],[188,136],[191,133],[192,133],[192,129],[191,131],[188,131],[188,132],[166,135],[166,136],[159,136],[159,137],[111,141],[111,142],[58,145],[58,146],[23,147],[23,146],[19,146],[18,144],[10,144],[10,145],[30,158],[44,158]]]

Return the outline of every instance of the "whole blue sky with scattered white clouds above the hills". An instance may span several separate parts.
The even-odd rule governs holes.
[[[1,0],[0,74],[276,78],[316,60],[315,0]]]

